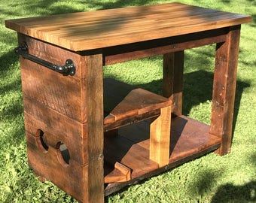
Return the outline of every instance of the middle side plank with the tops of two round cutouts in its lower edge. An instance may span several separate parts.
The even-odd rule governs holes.
[[[47,146],[56,147],[61,141],[69,149],[70,156],[81,165],[88,163],[87,151],[83,150],[87,134],[82,134],[83,124],[45,108],[23,96],[25,129],[30,135],[36,136],[38,129],[44,132]],[[50,117],[49,117],[50,115]],[[85,124],[84,124],[85,125]]]

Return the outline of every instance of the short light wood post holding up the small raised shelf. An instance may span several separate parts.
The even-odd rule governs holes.
[[[169,163],[171,106],[161,108],[160,116],[150,126],[149,158],[163,167]]]

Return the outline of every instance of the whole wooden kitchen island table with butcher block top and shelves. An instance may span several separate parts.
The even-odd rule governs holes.
[[[229,153],[240,25],[249,22],[180,3],[6,20],[27,44],[19,49],[29,167],[79,202],[101,203],[206,153]],[[210,125],[182,115],[184,50],[208,44],[217,44]],[[103,79],[104,65],[157,55],[163,95]],[[75,74],[40,59],[71,59]]]

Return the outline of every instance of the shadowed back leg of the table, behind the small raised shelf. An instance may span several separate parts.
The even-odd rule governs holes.
[[[184,50],[163,55],[163,96],[172,100],[172,114],[182,114]]]

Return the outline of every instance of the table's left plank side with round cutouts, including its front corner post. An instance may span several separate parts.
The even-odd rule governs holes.
[[[49,57],[48,61],[56,64],[71,57],[78,65],[75,76],[66,77],[20,57],[26,132],[35,139],[35,142],[28,145],[28,152],[38,150],[38,155],[29,155],[29,165],[40,177],[51,180],[78,201],[103,202],[103,91],[100,82],[102,54],[80,56],[19,35],[20,42],[24,39],[29,45],[29,53],[34,56],[43,59]],[[43,50],[43,53],[39,50]],[[67,58],[63,59],[62,56]],[[48,150],[41,144],[38,130],[44,132]],[[68,163],[59,149],[61,143],[68,147]],[[55,149],[54,153],[52,149]],[[37,163],[37,159],[43,159],[42,163]],[[56,168],[51,164],[53,161],[69,170]],[[73,167],[73,162],[79,167]],[[53,168],[53,171],[49,172],[49,168]],[[56,172],[57,170],[59,171]],[[80,180],[70,177],[70,184],[71,180],[67,178],[58,182],[58,174],[62,174],[59,175],[60,178],[69,177],[68,171],[74,172]],[[75,187],[73,181],[77,184]]]

